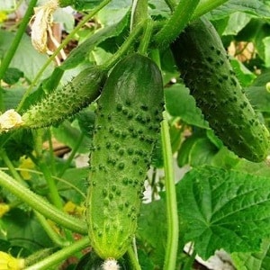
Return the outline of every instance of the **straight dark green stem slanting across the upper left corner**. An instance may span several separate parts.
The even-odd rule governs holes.
[[[5,54],[5,57],[3,61],[1,61],[0,65],[0,81],[4,77],[4,73],[9,66],[11,60],[14,58],[15,51],[18,49],[18,46],[20,44],[20,41],[23,38],[23,34],[26,30],[26,27],[31,19],[31,15],[33,14],[33,8],[37,4],[37,0],[31,0],[30,3],[28,4],[28,8],[23,16],[23,20],[20,23],[20,26],[18,28],[18,31],[15,34],[14,40],[8,49],[8,51]],[[2,91],[0,91],[0,111],[4,111],[4,103],[3,103],[3,95]]]

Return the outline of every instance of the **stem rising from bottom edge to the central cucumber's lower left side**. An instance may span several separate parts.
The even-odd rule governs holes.
[[[81,251],[85,247],[89,246],[89,238],[85,237],[69,247],[64,247],[53,255],[46,257],[35,265],[25,268],[25,270],[47,270],[52,266],[58,265],[61,261],[65,260],[67,257],[74,255],[76,252]]]

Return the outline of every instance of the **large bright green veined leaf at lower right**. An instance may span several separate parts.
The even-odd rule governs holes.
[[[215,250],[255,252],[270,236],[270,182],[213,166],[192,169],[177,184],[186,242],[206,259]]]

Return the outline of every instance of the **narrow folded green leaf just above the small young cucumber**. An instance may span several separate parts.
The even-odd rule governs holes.
[[[104,40],[118,36],[121,31],[123,31],[127,23],[128,16],[125,16],[121,22],[112,24],[111,26],[105,27],[102,30],[96,31],[87,40],[85,40],[70,52],[67,59],[63,62],[60,68],[66,70],[83,63],[85,60],[87,60],[87,58],[89,58],[89,54],[91,50],[94,49],[94,47],[96,47]]]

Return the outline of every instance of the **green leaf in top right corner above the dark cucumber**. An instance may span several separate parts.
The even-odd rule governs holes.
[[[270,6],[260,0],[229,0],[211,11],[211,19],[219,20],[236,12],[252,14],[258,18],[270,18]]]

